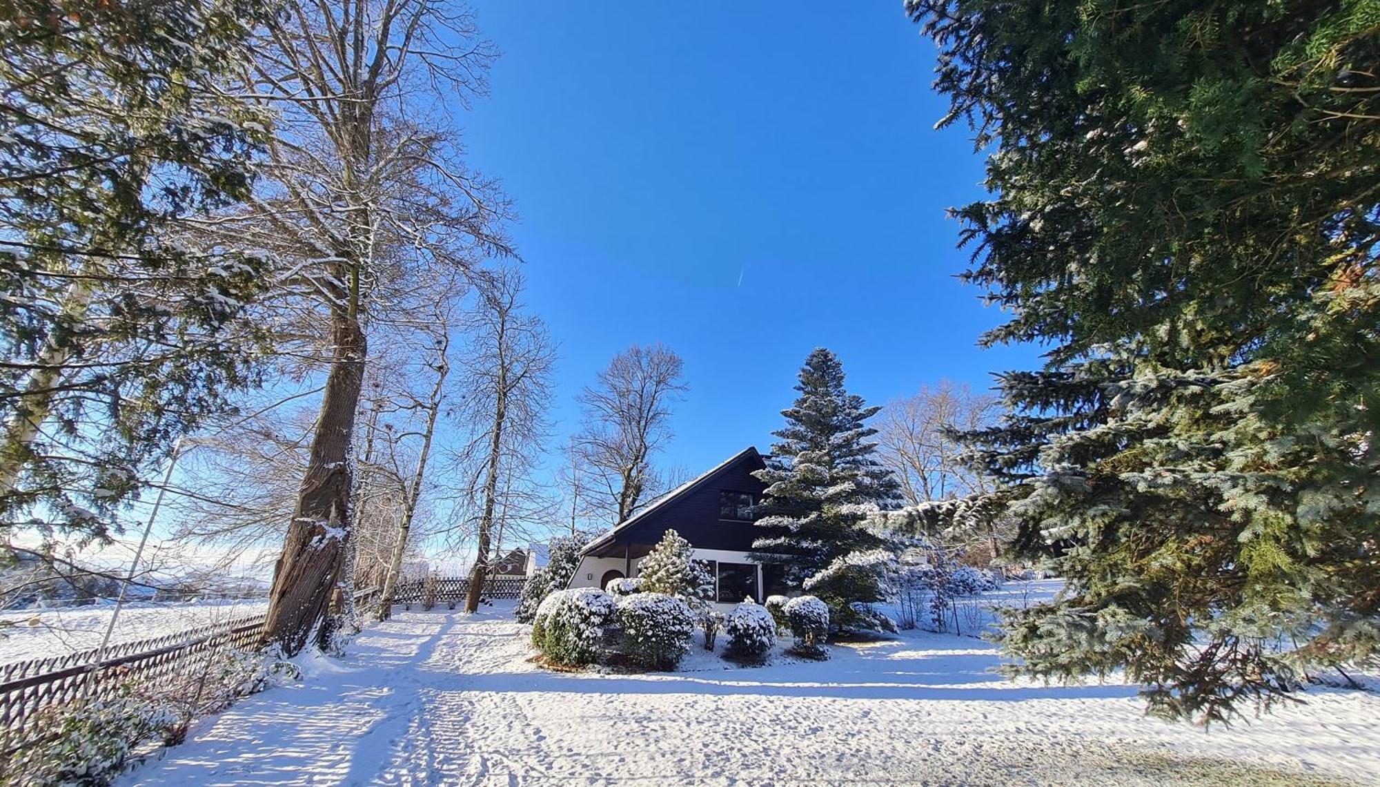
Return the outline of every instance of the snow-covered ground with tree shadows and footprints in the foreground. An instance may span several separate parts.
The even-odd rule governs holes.
[[[301,685],[248,697],[126,784],[1372,784],[1380,696],[1234,729],[1141,717],[1127,686],[1014,685],[976,639],[824,664],[555,674],[506,614],[400,613]]]

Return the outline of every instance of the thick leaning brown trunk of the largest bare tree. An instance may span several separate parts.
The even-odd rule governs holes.
[[[366,338],[353,308],[331,313],[334,353],[297,509],[269,591],[264,641],[295,656],[327,614],[349,538],[351,434],[364,380]],[[322,645],[322,642],[317,642]]]

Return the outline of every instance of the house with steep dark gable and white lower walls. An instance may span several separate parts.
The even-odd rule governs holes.
[[[747,447],[704,475],[658,497],[613,530],[591,541],[580,556],[570,587],[603,588],[613,580],[636,577],[638,566],[667,530],[680,533],[694,547],[715,579],[715,601],[762,602],[785,592],[782,574],[773,563],[748,558],[759,536],[752,508],[766,485],[752,472],[766,467],[755,447]]]

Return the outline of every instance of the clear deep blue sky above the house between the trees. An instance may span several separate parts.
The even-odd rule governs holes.
[[[843,11],[847,8],[847,12]],[[945,208],[981,196],[966,128],[934,131],[934,48],[889,3],[490,0],[491,95],[461,115],[520,222],[529,304],[560,342],[555,418],[632,342],[684,358],[661,461],[766,447],[806,353],[871,402],[1029,366],[954,276]]]

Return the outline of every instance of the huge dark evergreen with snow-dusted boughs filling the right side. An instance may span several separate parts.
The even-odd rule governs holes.
[[[983,341],[1049,347],[970,435],[1068,579],[1007,614],[1013,670],[1208,722],[1376,665],[1376,3],[908,8],[994,149],[958,211],[1014,315]]]

